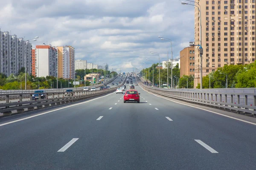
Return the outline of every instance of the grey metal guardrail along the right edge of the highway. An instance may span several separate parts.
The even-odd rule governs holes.
[[[202,89],[200,89],[201,91],[196,89],[185,91],[184,89],[152,88],[144,85],[137,77],[136,80],[145,90],[155,94],[256,117],[256,93],[231,93],[216,89],[212,91],[206,89],[205,91]],[[243,103],[241,103],[241,98],[244,99]],[[249,103],[248,99],[252,99],[252,101]]]

